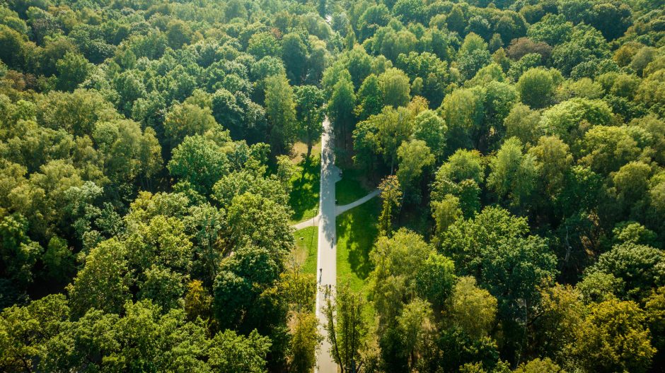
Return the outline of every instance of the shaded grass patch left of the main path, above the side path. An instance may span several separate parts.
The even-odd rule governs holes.
[[[318,194],[320,188],[320,158],[310,158],[299,163],[301,172],[291,180],[289,205],[294,211],[291,224],[311,219],[318,213]]]

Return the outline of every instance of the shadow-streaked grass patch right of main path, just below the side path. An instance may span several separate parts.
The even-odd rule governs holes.
[[[372,199],[337,217],[337,236],[346,237],[349,266],[354,275],[362,280],[372,270],[369,252],[378,236],[378,212],[378,200]]]

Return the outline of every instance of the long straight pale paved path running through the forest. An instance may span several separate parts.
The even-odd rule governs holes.
[[[335,167],[335,153],[332,151],[332,126],[328,118],[323,121],[323,135],[321,136],[321,183],[319,193],[318,215],[318,256],[316,261],[316,278],[318,291],[316,292],[316,316],[321,324],[325,324],[323,305],[325,304],[325,286],[337,285],[337,247],[335,243],[335,182],[340,179],[340,170]],[[316,220],[316,218],[315,218]],[[316,223],[316,222],[313,222]],[[337,365],[330,355],[330,343],[325,330],[320,327],[324,340],[316,352],[316,373],[337,373]]]

